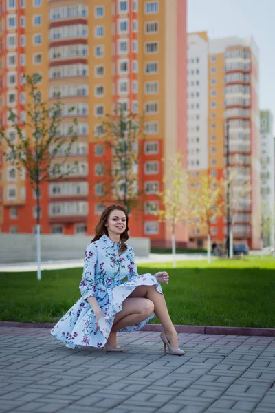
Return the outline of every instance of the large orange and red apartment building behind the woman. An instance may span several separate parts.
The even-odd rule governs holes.
[[[0,0],[0,21],[0,120],[8,134],[14,134],[8,107],[26,118],[24,73],[42,74],[42,100],[53,103],[61,94],[61,134],[78,118],[78,142],[67,160],[77,160],[78,169],[67,180],[43,184],[42,233],[93,233],[102,211],[97,176],[111,156],[96,135],[104,116],[122,103],[146,115],[138,171],[144,211],[133,211],[131,235],[166,244],[168,226],[146,204],[159,207],[155,193],[168,158],[186,147],[186,0]],[[68,113],[72,106],[75,112]],[[32,233],[35,195],[3,150],[1,231]],[[178,236],[187,240],[187,233]]]

